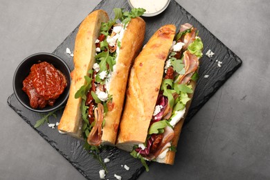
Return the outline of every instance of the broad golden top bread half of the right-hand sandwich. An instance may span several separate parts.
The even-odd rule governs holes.
[[[145,142],[175,30],[172,24],[159,28],[136,57],[116,144],[120,149],[132,151],[135,144]]]

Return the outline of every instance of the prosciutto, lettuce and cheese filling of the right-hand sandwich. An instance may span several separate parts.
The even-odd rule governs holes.
[[[170,53],[165,61],[163,80],[150,121],[145,143],[134,145],[132,156],[147,161],[161,161],[172,146],[174,126],[186,114],[186,105],[193,93],[190,80],[198,78],[199,58],[203,44],[197,36],[197,29],[183,24],[174,38]],[[146,168],[146,167],[145,167]]]

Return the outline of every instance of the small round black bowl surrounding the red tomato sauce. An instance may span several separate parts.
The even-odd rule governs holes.
[[[22,90],[23,81],[29,75],[30,68],[31,66],[33,66],[33,64],[37,64],[39,62],[44,61],[53,64],[53,66],[55,66],[56,69],[59,69],[62,73],[64,73],[68,84],[64,89],[64,92],[60,95],[60,97],[55,100],[53,106],[47,105],[42,109],[40,108],[33,109],[32,107],[30,107],[30,101],[27,94]],[[21,62],[21,64],[19,64],[19,66],[17,67],[13,77],[13,91],[19,102],[21,102],[21,105],[23,105],[27,109],[30,109],[31,111],[36,111],[39,113],[53,111],[58,107],[64,105],[64,103],[66,103],[66,100],[69,98],[69,87],[71,84],[70,73],[71,71],[69,69],[69,66],[60,57],[57,57],[56,55],[53,55],[51,53],[36,53],[26,57],[26,59],[24,59]]]

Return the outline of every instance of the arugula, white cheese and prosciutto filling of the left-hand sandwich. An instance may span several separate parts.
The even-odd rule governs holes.
[[[82,98],[82,132],[88,146],[98,146],[102,143],[102,127],[105,126],[107,111],[114,109],[113,98],[109,94],[111,77],[116,71],[116,63],[120,51],[121,41],[125,30],[132,18],[143,15],[145,10],[138,8],[131,12],[114,9],[115,18],[102,23],[100,33],[96,39],[96,63],[89,70],[89,76],[84,78],[84,84],[75,98]]]

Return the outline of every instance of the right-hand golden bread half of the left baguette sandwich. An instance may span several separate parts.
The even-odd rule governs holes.
[[[129,69],[134,58],[141,50],[144,37],[145,21],[143,21],[141,17],[136,17],[129,21],[118,53],[116,69],[114,69],[111,74],[111,88],[109,89],[109,94],[113,97],[112,103],[114,108],[108,111],[105,116],[105,126],[102,130],[103,144],[115,145],[116,143]]]

